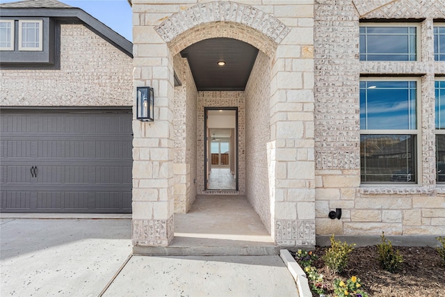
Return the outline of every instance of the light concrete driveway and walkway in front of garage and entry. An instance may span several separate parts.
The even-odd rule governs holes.
[[[131,256],[129,219],[0,220],[0,296],[298,296],[278,255]]]

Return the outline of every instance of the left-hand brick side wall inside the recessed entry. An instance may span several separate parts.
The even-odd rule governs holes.
[[[177,54],[175,72],[181,86],[175,87],[175,159],[173,163],[175,184],[173,197],[175,213],[186,213],[196,198],[196,104],[197,90],[187,59]]]

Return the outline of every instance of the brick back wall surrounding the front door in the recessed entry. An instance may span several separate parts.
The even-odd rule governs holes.
[[[244,92],[204,91],[197,97],[197,193],[204,191],[204,107],[238,107],[238,194],[245,193]]]

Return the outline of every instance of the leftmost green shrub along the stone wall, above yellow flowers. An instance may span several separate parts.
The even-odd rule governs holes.
[[[327,249],[323,260],[330,270],[341,273],[348,265],[350,252],[353,251],[355,244],[349,245],[346,242],[336,241],[334,234],[331,236],[331,247]]]

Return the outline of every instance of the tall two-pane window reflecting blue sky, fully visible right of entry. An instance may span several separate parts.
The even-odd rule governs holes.
[[[362,183],[417,182],[417,80],[360,81]]]

